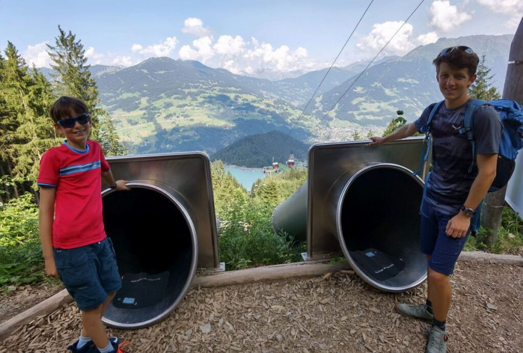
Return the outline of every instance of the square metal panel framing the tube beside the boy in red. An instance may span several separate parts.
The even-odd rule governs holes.
[[[115,180],[168,185],[186,200],[198,236],[198,267],[219,268],[211,164],[201,152],[108,157]]]

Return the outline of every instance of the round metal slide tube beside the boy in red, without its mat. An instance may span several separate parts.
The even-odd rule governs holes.
[[[160,302],[140,309],[109,304],[103,322],[134,329],[162,320],[185,297],[196,273],[198,238],[194,211],[178,191],[149,180],[127,186],[131,191],[102,193],[106,233],[115,247],[120,275],[169,272]]]

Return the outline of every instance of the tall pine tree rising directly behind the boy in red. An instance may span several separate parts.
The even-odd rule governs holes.
[[[71,31],[66,33],[60,26],[58,31],[60,34],[55,38],[55,45],[47,45],[54,62],[51,67],[56,72],[51,74],[55,79],[56,93],[85,101],[93,121],[92,138],[101,143],[106,155],[127,153],[109,113],[97,106],[100,103],[99,91],[89,71],[84,45]]]

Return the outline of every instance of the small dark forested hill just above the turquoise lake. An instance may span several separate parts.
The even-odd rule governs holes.
[[[252,168],[269,166],[272,157],[279,163],[286,163],[290,154],[294,160],[305,161],[309,145],[300,142],[279,131],[246,136],[224,149],[211,154],[211,160],[221,160],[224,164],[233,164]]]

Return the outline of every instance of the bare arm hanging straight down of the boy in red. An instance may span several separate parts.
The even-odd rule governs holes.
[[[42,243],[42,254],[46,261],[46,274],[60,278],[53,254],[53,220],[54,220],[54,197],[56,188],[49,186],[40,187],[40,212],[38,224],[40,229],[40,242]]]

